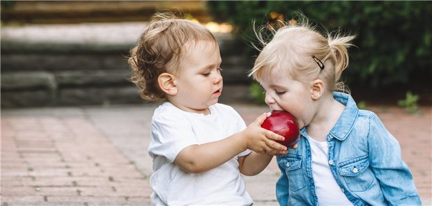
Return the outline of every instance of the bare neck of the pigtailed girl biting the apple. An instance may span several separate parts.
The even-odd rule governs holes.
[[[334,100],[332,95],[327,95],[318,106],[320,109],[307,125],[307,134],[316,141],[326,141],[327,134],[344,112],[345,105]]]

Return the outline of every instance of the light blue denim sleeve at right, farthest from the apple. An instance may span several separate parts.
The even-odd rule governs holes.
[[[398,141],[378,116],[373,114],[369,120],[369,163],[385,199],[389,205],[422,205]]]

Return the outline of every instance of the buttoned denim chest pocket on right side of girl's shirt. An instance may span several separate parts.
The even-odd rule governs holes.
[[[339,164],[339,174],[344,177],[350,191],[366,191],[374,177],[369,168],[368,155],[350,159]]]

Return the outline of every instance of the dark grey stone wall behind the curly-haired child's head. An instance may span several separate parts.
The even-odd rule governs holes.
[[[130,70],[126,56],[137,38],[107,40],[105,36],[109,31],[100,29],[103,34],[98,35],[95,26],[92,28],[86,38],[68,37],[71,32],[68,31],[63,34],[64,40],[56,41],[55,35],[49,35],[53,31],[47,29],[32,30],[24,35],[17,31],[8,33],[8,28],[3,28],[1,107],[144,102],[137,88],[128,81]],[[118,38],[124,37],[116,31],[118,29],[122,28],[113,26],[111,31],[117,33]],[[81,32],[85,33],[85,29]],[[42,38],[37,38],[38,35]],[[248,101],[250,79],[246,70],[252,65],[252,58],[244,52],[247,46],[230,34],[215,36],[224,68],[222,102]]]

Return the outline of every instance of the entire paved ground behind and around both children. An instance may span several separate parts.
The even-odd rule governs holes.
[[[249,124],[265,106],[232,105]],[[1,205],[150,205],[148,131],[155,105],[3,109]],[[431,205],[432,107],[412,116],[371,107],[401,143],[424,205]],[[255,205],[277,205],[272,161],[245,177]]]

